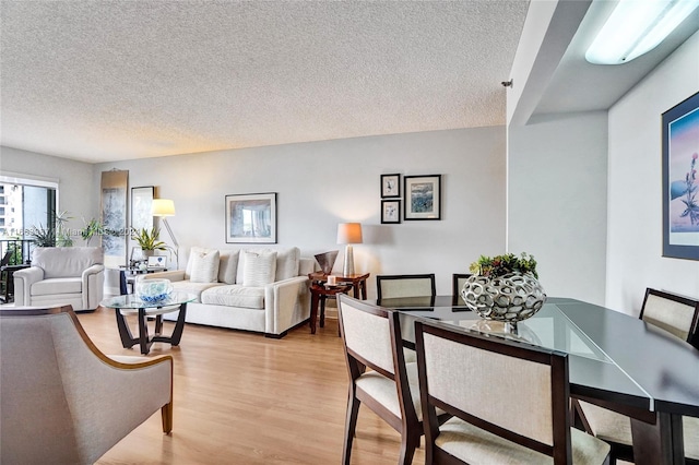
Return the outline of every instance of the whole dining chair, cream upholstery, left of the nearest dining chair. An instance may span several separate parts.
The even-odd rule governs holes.
[[[399,464],[411,464],[423,434],[417,366],[405,362],[399,313],[339,295],[340,331],[350,372],[343,464],[350,464],[359,405],[401,433]]]

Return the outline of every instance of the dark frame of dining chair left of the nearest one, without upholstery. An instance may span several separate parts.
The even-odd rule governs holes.
[[[415,449],[419,446],[419,438],[423,436],[423,424],[417,419],[417,413],[413,405],[411,397],[410,384],[407,381],[407,371],[405,368],[405,357],[402,350],[402,335],[401,324],[399,321],[399,313],[393,310],[384,309],[367,303],[362,300],[357,300],[345,294],[337,295],[337,310],[340,313],[340,333],[345,347],[345,360],[347,363],[347,371],[350,373],[350,396],[347,400],[347,415],[345,420],[345,437],[344,437],[344,450],[342,463],[350,464],[350,457],[352,454],[352,442],[355,437],[355,430],[357,426],[357,416],[359,413],[359,405],[364,403],[367,407],[374,410],[379,417],[386,420],[393,429],[401,433],[401,452],[399,463],[411,464]],[[389,321],[389,331],[391,332],[391,345],[393,351],[393,371],[390,373],[376,366],[365,357],[356,354],[354,350],[347,347],[345,341],[345,329],[342,318],[343,305],[350,303],[362,311],[370,314],[375,314],[381,318],[386,318]],[[399,348],[401,348],[399,350]],[[393,380],[398,389],[399,404],[401,406],[401,417],[395,416],[392,412],[386,408],[382,404],[377,402],[374,397],[366,394],[356,386],[356,380],[370,368],[376,372]]]

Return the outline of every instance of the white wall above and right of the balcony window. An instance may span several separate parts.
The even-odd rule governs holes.
[[[0,174],[58,182],[58,211],[68,211],[71,229],[82,228],[83,217],[90,219],[99,214],[99,201],[93,198],[99,183],[93,184],[92,164],[0,146]],[[82,246],[82,239],[75,245]]]

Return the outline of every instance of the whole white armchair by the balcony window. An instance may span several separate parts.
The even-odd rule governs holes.
[[[32,266],[14,273],[14,305],[94,310],[104,293],[100,247],[37,247]]]

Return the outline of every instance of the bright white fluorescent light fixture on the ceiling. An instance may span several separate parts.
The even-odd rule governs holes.
[[[651,51],[699,0],[620,0],[585,52],[594,64],[621,64]]]

